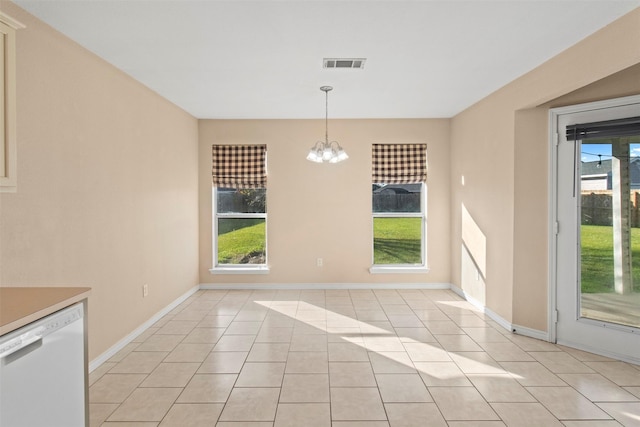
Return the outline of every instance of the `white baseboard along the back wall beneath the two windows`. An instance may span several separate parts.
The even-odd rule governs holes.
[[[200,289],[451,289],[449,283],[201,283]]]

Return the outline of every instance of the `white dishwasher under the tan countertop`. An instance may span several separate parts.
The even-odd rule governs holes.
[[[0,427],[86,426],[83,307],[0,337]]]

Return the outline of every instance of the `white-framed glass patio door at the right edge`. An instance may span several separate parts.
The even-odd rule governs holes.
[[[559,344],[640,363],[640,132],[576,130],[638,116],[635,101],[552,112],[552,282]]]

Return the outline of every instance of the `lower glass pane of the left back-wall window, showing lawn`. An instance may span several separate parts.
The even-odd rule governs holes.
[[[218,264],[265,264],[265,218],[218,218]]]

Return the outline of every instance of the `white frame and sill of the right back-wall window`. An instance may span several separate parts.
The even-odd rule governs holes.
[[[427,264],[427,183],[420,184],[420,212],[373,212],[371,206],[371,274],[393,273],[425,273],[429,271]],[[373,227],[375,218],[421,218],[420,264],[375,264]]]

